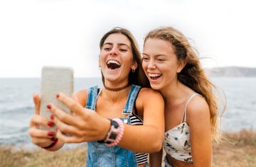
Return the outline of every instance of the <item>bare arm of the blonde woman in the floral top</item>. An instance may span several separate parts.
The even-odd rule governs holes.
[[[211,166],[212,146],[210,111],[206,100],[196,96],[188,103],[188,124],[191,128],[193,166]]]

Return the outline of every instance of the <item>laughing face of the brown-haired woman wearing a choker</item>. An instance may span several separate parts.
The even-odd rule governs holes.
[[[127,84],[128,75],[131,69],[137,68],[133,62],[132,47],[129,39],[121,34],[109,35],[102,45],[100,51],[99,66],[105,78],[105,84]]]

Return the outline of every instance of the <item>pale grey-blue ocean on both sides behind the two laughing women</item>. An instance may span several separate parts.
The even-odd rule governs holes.
[[[227,99],[222,130],[255,129],[256,78],[216,77],[212,81],[225,92]],[[77,78],[74,92],[93,85],[102,86],[101,79]],[[0,79],[0,146],[31,145],[28,124],[34,113],[33,93],[40,93],[38,78]]]

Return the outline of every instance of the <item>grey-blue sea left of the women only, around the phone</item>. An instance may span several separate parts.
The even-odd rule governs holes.
[[[28,126],[35,113],[33,93],[40,94],[40,79],[0,79],[0,146],[31,145]],[[89,86],[102,87],[101,79],[79,78],[74,92]]]

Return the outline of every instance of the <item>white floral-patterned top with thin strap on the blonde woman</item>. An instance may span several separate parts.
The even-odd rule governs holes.
[[[186,123],[186,107],[188,102],[196,95],[198,95],[198,93],[193,93],[191,97],[188,98],[184,108],[181,124],[164,133],[163,146],[166,154],[169,154],[174,159],[178,159],[186,163],[193,163],[191,156],[191,139],[189,135],[190,130]]]

